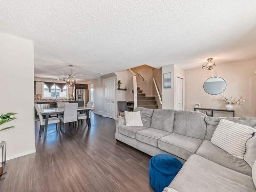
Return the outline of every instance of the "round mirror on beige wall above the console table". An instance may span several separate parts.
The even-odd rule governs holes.
[[[204,91],[211,95],[222,93],[226,87],[227,83],[221,77],[210,77],[204,82]]]

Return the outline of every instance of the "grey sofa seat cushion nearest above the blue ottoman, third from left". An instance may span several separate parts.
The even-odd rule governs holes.
[[[196,153],[201,143],[201,139],[172,133],[160,138],[158,147],[186,160],[190,155]]]

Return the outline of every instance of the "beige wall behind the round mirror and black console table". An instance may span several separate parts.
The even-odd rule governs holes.
[[[236,116],[256,117],[256,58],[232,63],[217,63],[217,66],[207,71],[202,68],[185,71],[185,110],[193,110],[195,103],[200,103],[205,108],[225,109],[224,101],[220,101],[221,95],[245,97],[242,105],[234,105]],[[227,82],[226,90],[219,95],[209,95],[203,89],[204,81],[212,76],[220,76]],[[218,113],[216,113],[218,115]],[[230,116],[221,114],[222,116]]]

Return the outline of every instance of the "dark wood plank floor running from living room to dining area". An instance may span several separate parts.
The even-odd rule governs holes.
[[[116,142],[113,119],[92,114],[91,122],[66,134],[49,125],[46,139],[35,122],[36,153],[7,161],[0,191],[153,191],[150,156]]]

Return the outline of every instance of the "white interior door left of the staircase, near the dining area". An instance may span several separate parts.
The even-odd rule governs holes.
[[[115,80],[105,83],[106,117],[115,118]]]

